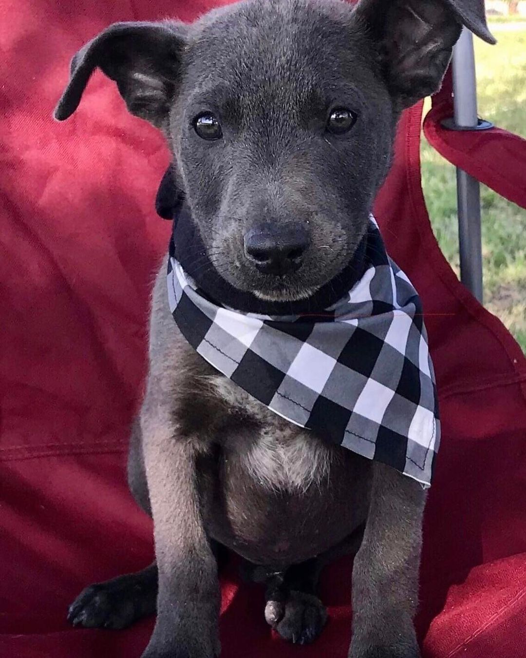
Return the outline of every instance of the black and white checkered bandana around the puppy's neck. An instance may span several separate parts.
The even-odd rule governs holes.
[[[431,484],[440,421],[421,302],[371,216],[364,276],[322,313],[218,306],[174,258],[168,299],[192,347],[247,393],[318,436]]]

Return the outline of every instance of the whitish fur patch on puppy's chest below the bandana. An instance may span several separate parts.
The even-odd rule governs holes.
[[[269,489],[302,492],[329,473],[334,449],[308,430],[279,417],[222,375],[208,378],[229,413],[247,418],[245,430],[226,430],[226,460],[234,460],[258,484]]]

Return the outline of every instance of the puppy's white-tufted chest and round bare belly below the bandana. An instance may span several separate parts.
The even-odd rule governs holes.
[[[207,532],[249,561],[289,565],[319,555],[364,519],[363,458],[327,445],[274,414],[222,376],[208,376],[226,422],[212,486]],[[217,478],[218,476],[218,478]]]

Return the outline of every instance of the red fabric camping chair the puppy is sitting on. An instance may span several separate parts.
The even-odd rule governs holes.
[[[168,153],[96,74],[65,124],[51,111],[72,53],[116,20],[194,18],[207,0],[4,0],[0,258],[0,658],[139,656],[153,620],[80,630],[68,603],[86,584],[145,566],[151,522],[125,480],[146,368],[156,263],[170,224],[154,211]],[[418,631],[431,658],[519,658],[526,647],[526,360],[458,282],[420,186],[422,105],[407,111],[375,212],[418,288],[439,384],[443,438],[429,496]],[[427,136],[526,206],[526,146],[502,130],[447,132],[450,89]],[[515,164],[511,164],[515,163]],[[522,163],[522,166],[520,165]],[[350,562],[327,570],[331,619],[311,647],[272,636],[258,586],[224,576],[226,658],[344,658]]]

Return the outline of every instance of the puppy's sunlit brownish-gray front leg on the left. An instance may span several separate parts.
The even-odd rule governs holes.
[[[143,658],[213,658],[219,653],[216,559],[204,532],[195,461],[202,448],[181,436],[158,403],[141,415],[158,566],[157,619]]]

